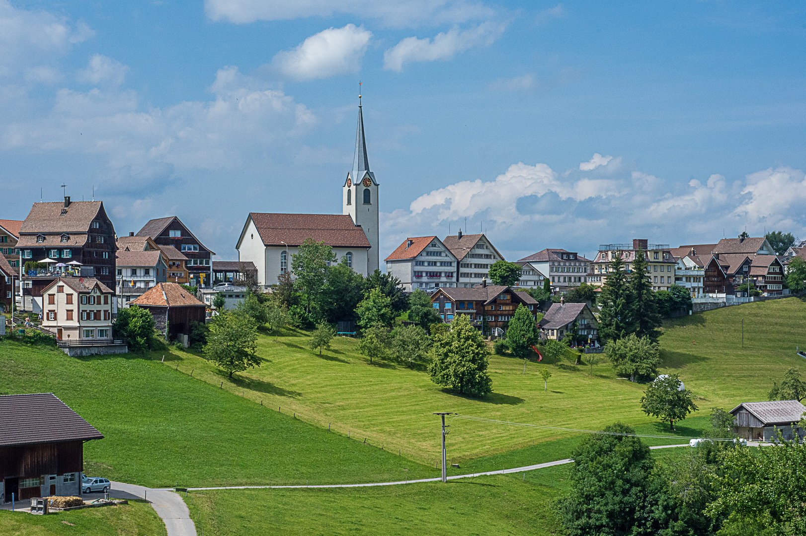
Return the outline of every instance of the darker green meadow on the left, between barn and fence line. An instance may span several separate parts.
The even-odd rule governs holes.
[[[438,476],[135,354],[77,359],[0,343],[0,393],[43,392],[105,435],[85,443],[85,472],[111,480],[163,487]]]

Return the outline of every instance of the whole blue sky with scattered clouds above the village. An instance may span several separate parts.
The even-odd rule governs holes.
[[[806,239],[804,48],[803,2],[0,0],[0,219],[94,194],[236,259],[341,213],[360,81],[381,260]]]

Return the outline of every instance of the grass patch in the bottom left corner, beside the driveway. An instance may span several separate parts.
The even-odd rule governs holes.
[[[5,536],[160,536],[165,526],[146,501],[86,508],[34,516],[0,510],[0,534]]]

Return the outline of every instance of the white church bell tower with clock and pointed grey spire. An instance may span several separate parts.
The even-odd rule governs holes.
[[[368,251],[367,274],[380,268],[378,241],[378,183],[369,171],[367,141],[364,139],[364,115],[361,113],[361,96],[358,96],[358,127],[355,133],[355,157],[352,171],[342,188],[342,213],[349,214],[355,225],[360,225],[372,247]]]

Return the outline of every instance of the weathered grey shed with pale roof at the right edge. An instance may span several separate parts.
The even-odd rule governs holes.
[[[772,400],[770,402],[744,402],[730,410],[736,418],[733,432],[742,439],[773,441],[776,428],[783,439],[791,440],[795,434],[804,438],[804,430],[797,426],[806,407],[797,400]],[[793,431],[792,426],[795,426]]]

